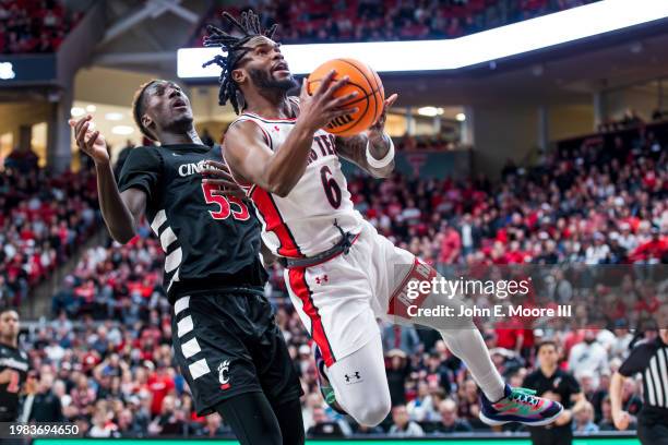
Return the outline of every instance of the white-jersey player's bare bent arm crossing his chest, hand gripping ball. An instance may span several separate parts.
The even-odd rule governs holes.
[[[287,196],[306,170],[315,131],[337,117],[354,112],[342,106],[355,98],[357,92],[335,98],[334,93],[348,82],[348,77],[333,82],[333,76],[334,71],[312,96],[307,92],[305,80],[299,118],[277,152],[272,152],[269,141],[253,122],[239,122],[227,131],[225,160],[235,176],[278,196]]]

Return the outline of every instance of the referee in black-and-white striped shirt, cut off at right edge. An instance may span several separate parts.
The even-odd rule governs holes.
[[[668,326],[668,304],[658,314],[660,327]],[[627,377],[643,374],[643,408],[637,416],[637,437],[643,445],[668,445],[668,328],[654,339],[636,346],[610,382],[612,420],[619,430],[631,417],[622,411],[622,385]]]

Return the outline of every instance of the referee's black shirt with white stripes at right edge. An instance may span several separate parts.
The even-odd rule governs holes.
[[[636,346],[619,373],[625,377],[643,374],[641,416],[668,424],[668,345],[657,337]]]

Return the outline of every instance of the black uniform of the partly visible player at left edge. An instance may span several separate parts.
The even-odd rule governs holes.
[[[27,354],[11,346],[0,345],[0,373],[9,370],[10,381],[0,385],[0,422],[15,422],[19,417],[19,393],[28,371]]]

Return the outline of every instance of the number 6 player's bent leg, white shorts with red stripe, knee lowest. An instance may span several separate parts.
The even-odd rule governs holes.
[[[370,285],[359,239],[348,254],[317,266],[287,268],[290,299],[320,349],[334,401],[357,422],[375,425],[390,412],[380,329],[370,305]]]

